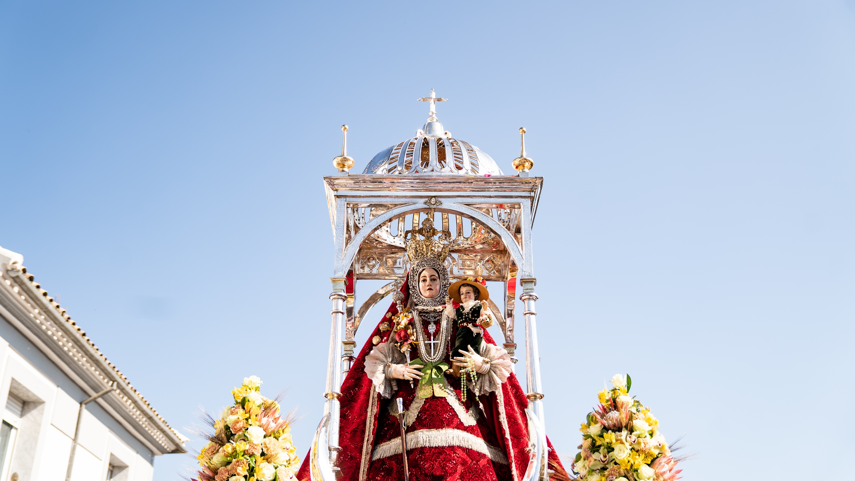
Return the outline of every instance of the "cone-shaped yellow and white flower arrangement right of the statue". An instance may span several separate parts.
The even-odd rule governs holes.
[[[599,404],[581,425],[582,443],[573,461],[584,481],[674,481],[682,470],[650,408],[628,395],[632,378],[615,374],[612,388],[599,391]],[[676,449],[676,448],[675,448]]]

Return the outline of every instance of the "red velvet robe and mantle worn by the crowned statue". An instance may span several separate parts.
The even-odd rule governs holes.
[[[401,291],[404,293],[404,304],[406,304],[409,297],[408,283],[404,283]],[[398,308],[394,302],[386,313],[398,314]],[[390,403],[394,402],[395,397],[402,396],[404,409],[408,409],[415,398],[415,390],[410,387],[410,383],[402,380],[398,380],[398,391],[391,399],[383,398],[374,389],[374,384],[365,373],[365,357],[374,348],[371,339],[374,336],[386,339],[389,331],[380,331],[380,324],[388,320],[389,317],[384,314],[369,335],[369,342],[363,346],[342,383],[339,428],[339,446],[342,451],[339,453],[338,462],[341,468],[340,481],[399,481],[404,478],[399,449],[397,455],[371,460],[377,446],[400,436],[398,418],[390,413]],[[452,331],[452,340],[454,334],[455,332]],[[495,344],[486,331],[484,342]],[[415,358],[415,356],[417,351],[414,350],[414,354],[410,357]],[[448,355],[445,361],[449,362]],[[460,379],[447,374],[445,378],[457,393],[457,399],[462,399]],[[493,392],[476,398],[470,390],[467,397],[467,401],[463,402],[467,412],[476,399],[483,407],[483,410],[479,409],[481,415],[475,425],[463,425],[459,415],[445,398],[432,396],[425,400],[415,422],[408,426],[408,437],[414,431],[425,429],[464,431],[483,439],[488,446],[498,449],[504,454],[504,460],[507,462],[490,460],[481,452],[461,446],[408,449],[410,479],[414,481],[518,481],[525,474],[530,456],[528,454],[528,420],[523,410],[528,406],[528,399],[516,376],[511,373],[507,381],[502,383],[501,395]],[[549,446],[551,448],[551,444]],[[493,455],[493,457],[502,456]],[[550,469],[557,472],[556,478],[567,478],[554,449],[550,451],[549,460]],[[304,458],[297,478],[300,481],[310,480],[309,455]]]

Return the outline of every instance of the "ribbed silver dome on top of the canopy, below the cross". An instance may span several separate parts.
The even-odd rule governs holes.
[[[439,120],[434,119],[428,119],[416,137],[374,155],[363,173],[504,175],[490,155],[475,145],[451,138]]]

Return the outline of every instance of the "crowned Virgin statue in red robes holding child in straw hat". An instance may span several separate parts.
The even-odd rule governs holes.
[[[486,287],[450,283],[444,261],[451,233],[436,231],[430,217],[405,238],[406,282],[342,384],[339,479],[404,479],[401,398],[410,479],[518,481],[529,460],[528,399],[510,355],[485,329],[492,323],[481,304]],[[568,478],[549,446],[552,478]],[[310,479],[308,460],[301,481]]]

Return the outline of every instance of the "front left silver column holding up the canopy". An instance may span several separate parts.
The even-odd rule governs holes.
[[[324,405],[324,414],[329,414],[329,431],[327,431],[327,444],[329,445],[329,462],[335,466],[339,458],[339,397],[341,397],[341,338],[345,324],[345,279],[332,278],[333,293],[329,295],[333,301],[333,310],[330,312],[333,318],[333,326],[329,334],[329,355],[327,357],[327,392],[324,397],[327,402]]]

